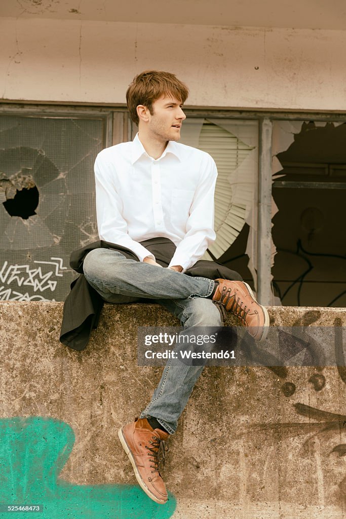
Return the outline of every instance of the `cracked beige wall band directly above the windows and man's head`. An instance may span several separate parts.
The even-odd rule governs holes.
[[[346,110],[344,31],[0,22],[4,100],[122,104],[133,76],[154,68],[185,80],[193,106]]]

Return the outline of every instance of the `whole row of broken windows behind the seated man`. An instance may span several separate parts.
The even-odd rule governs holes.
[[[239,271],[262,304],[346,306],[346,124],[206,114],[191,112],[181,139],[219,172],[204,257]],[[98,238],[93,163],[112,131],[114,144],[134,136],[126,111],[0,116],[0,299],[66,297],[71,251]]]

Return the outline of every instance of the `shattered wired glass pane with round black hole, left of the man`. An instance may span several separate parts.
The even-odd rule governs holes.
[[[65,299],[71,252],[98,239],[93,163],[104,147],[99,115],[0,117],[0,301]],[[35,214],[11,216],[6,202],[36,188]]]

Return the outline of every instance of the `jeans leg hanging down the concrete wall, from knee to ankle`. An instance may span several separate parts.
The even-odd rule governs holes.
[[[203,335],[209,335],[208,327],[223,325],[219,310],[211,299],[194,298],[157,301],[181,320],[184,335],[194,334],[195,326],[203,326]],[[215,333],[215,330],[213,330]],[[204,351],[211,349],[211,344],[201,346]],[[174,351],[185,349],[184,344],[176,344]],[[198,361],[199,364],[203,360]],[[177,421],[183,412],[193,386],[195,386],[203,365],[187,365],[181,360],[169,359],[158,387],[154,391],[149,405],[141,413],[141,418],[155,417],[160,424],[173,434]]]

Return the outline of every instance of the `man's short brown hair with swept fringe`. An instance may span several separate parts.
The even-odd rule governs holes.
[[[133,79],[126,92],[126,102],[130,112],[130,117],[137,125],[139,117],[137,106],[143,104],[151,115],[153,115],[153,103],[162,94],[171,95],[185,103],[189,90],[182,81],[170,72],[159,72],[157,70],[147,70],[138,74]]]

